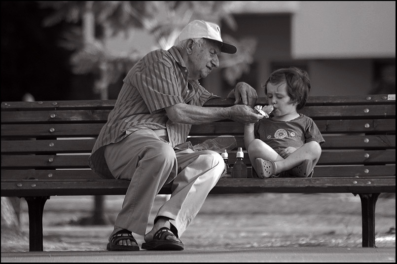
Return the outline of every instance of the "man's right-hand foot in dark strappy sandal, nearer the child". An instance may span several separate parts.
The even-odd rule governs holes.
[[[182,241],[168,227],[161,227],[149,242],[142,244],[145,250],[183,250]]]

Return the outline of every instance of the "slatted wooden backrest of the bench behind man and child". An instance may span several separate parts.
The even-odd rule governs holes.
[[[300,111],[314,119],[325,138],[313,177],[396,175],[396,101],[392,95],[310,97]],[[95,138],[115,100],[1,103],[1,183],[10,181],[96,181],[88,167]],[[214,99],[206,107],[227,107]],[[265,105],[265,98],[257,104]],[[244,125],[230,120],[193,125],[193,145],[219,135],[236,137],[244,148]],[[229,152],[229,163],[236,159]],[[244,161],[252,176],[250,160]]]

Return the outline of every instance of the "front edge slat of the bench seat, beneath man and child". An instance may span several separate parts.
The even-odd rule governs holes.
[[[84,183],[70,181],[25,181],[15,184],[1,184],[1,196],[53,196],[53,195],[113,195],[125,194],[129,181],[103,180]],[[360,178],[284,178],[284,179],[221,179],[212,194],[220,193],[379,193],[395,192],[396,177],[379,177],[368,183]],[[164,187],[160,193],[170,193],[170,186]]]

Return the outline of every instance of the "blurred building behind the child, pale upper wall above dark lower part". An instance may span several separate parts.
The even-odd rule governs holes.
[[[311,95],[395,93],[395,5],[395,1],[236,2],[232,13],[238,29],[223,27],[223,34],[257,38],[251,71],[241,79],[255,88],[275,69],[296,66],[308,71]],[[258,92],[263,95],[263,89]]]

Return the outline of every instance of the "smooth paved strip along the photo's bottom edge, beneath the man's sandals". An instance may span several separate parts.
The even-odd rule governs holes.
[[[395,248],[266,248],[240,250],[185,250],[177,252],[40,252],[1,253],[1,262],[268,262],[268,263],[396,263]]]

